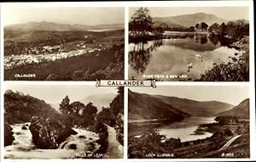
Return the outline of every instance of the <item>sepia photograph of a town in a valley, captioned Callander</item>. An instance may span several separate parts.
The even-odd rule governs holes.
[[[125,8],[2,8],[5,81],[124,79]]]

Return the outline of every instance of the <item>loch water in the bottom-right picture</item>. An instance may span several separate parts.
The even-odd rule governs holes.
[[[193,141],[211,137],[207,131],[197,132],[201,124],[216,122],[215,117],[189,117],[180,122],[166,123],[161,121],[137,122],[129,124],[129,137],[140,137],[144,131],[156,131],[170,138],[180,138],[181,142]]]

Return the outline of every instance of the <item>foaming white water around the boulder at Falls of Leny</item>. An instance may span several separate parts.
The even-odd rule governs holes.
[[[100,145],[96,142],[100,137],[98,134],[92,131],[84,129],[73,128],[78,134],[67,137],[65,142],[62,142],[58,149],[39,149],[32,143],[32,134],[29,131],[30,123],[15,124],[11,126],[13,128],[15,141],[12,145],[4,147],[4,158],[6,159],[73,159],[77,158],[78,153],[94,153],[100,148]],[[22,127],[26,126],[26,129]],[[110,126],[109,126],[110,127]],[[110,127],[109,129],[111,129]],[[115,133],[114,129],[108,132],[109,137],[113,137]],[[115,134],[114,134],[115,135]],[[114,142],[114,143],[112,143]],[[114,144],[116,146],[116,139],[111,139],[109,145]],[[75,149],[73,147],[75,146]],[[113,147],[109,147],[113,148]],[[108,150],[108,157],[113,157],[119,153],[111,152]]]

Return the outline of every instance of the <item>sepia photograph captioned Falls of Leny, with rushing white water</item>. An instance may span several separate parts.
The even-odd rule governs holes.
[[[123,159],[124,88],[6,85],[4,159]]]

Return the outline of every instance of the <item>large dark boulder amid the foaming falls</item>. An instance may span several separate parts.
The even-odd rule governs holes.
[[[70,135],[77,134],[71,127],[66,126],[61,120],[44,119],[33,116],[29,130],[32,133],[32,142],[43,149],[58,148]]]

